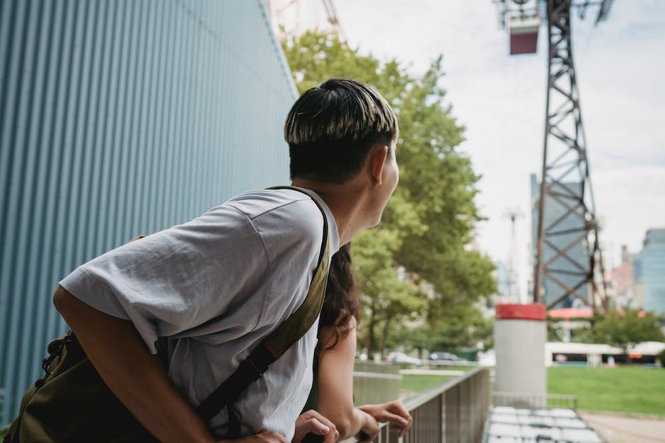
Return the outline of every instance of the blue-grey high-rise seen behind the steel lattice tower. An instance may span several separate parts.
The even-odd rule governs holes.
[[[581,192],[574,187],[579,187],[579,183],[562,183],[563,187],[570,189],[574,194],[581,194]],[[538,250],[538,206],[540,204],[540,182],[536,179],[536,175],[531,175],[531,244],[533,252],[533,264],[536,266],[537,250]],[[589,268],[589,259],[586,255],[586,235],[582,233],[586,230],[584,228],[584,218],[575,213],[568,213],[566,206],[561,201],[552,196],[545,198],[545,228],[553,223],[557,223],[556,232],[551,233],[547,238],[547,242],[543,242],[543,263],[548,264],[550,274],[552,274],[557,281],[548,276],[543,276],[543,289],[545,295],[543,303],[545,306],[550,306],[557,299],[566,293],[563,286],[567,288],[574,288],[583,280],[586,280],[586,271]],[[578,239],[576,242],[576,239]],[[553,244],[557,249],[565,249],[568,245],[576,242],[572,247],[566,251],[566,256],[555,256],[555,249],[548,245],[548,242]],[[550,263],[551,261],[551,263]],[[562,286],[563,285],[563,286]],[[577,295],[584,300],[589,299],[589,288],[586,283],[579,285],[575,291]],[[560,302],[557,302],[551,309],[560,309],[565,307],[581,307],[584,306],[582,300],[569,295]]]

